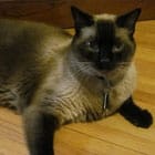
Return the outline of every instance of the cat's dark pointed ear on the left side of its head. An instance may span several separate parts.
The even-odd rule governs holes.
[[[90,27],[94,23],[92,16],[81,11],[76,7],[71,7],[71,11],[76,32],[79,32],[82,28]]]

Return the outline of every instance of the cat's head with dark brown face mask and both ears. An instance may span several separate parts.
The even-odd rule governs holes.
[[[81,62],[112,71],[128,64],[135,52],[133,33],[141,9],[123,16],[90,16],[72,8],[75,35],[72,46]]]

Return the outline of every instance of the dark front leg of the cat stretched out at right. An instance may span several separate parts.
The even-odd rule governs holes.
[[[142,110],[135,105],[132,96],[127,99],[118,110],[127,121],[138,127],[147,128],[153,123],[153,117],[147,110]]]

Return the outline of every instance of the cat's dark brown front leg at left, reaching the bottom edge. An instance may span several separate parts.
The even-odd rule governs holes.
[[[53,138],[58,120],[38,107],[28,107],[23,123],[30,155],[54,155]]]

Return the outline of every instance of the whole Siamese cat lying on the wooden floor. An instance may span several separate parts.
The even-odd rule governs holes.
[[[135,105],[134,31],[141,9],[91,16],[72,7],[74,37],[44,23],[0,20],[0,105],[23,117],[30,155],[54,155],[62,125],[118,112],[149,127]]]

